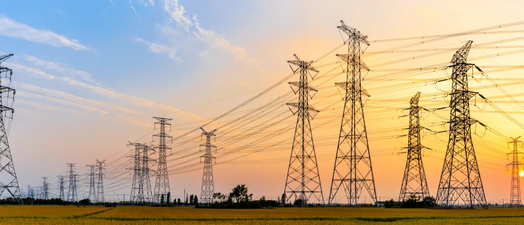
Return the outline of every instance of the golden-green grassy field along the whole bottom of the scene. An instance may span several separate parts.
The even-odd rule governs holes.
[[[0,206],[0,224],[522,224],[523,208],[385,209]]]

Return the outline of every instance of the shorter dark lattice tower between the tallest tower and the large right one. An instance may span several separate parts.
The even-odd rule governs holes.
[[[429,197],[428,183],[425,179],[424,166],[422,165],[422,145],[420,144],[420,92],[409,101],[409,136],[408,136],[408,159],[406,170],[400,187],[399,201],[407,200],[411,195],[421,199]]]

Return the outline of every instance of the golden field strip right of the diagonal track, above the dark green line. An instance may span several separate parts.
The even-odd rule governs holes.
[[[276,209],[195,209],[192,207],[117,207],[96,217],[133,218],[355,218],[429,216],[524,216],[523,208],[484,209],[386,209],[386,208],[276,208]]]

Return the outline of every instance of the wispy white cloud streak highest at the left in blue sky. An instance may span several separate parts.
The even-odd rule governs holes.
[[[48,30],[39,30],[0,14],[0,35],[48,44],[54,47],[69,47],[74,50],[89,50],[77,39],[69,39]]]

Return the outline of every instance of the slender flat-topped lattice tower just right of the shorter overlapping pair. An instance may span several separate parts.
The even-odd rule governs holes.
[[[172,138],[166,134],[166,125],[171,126],[167,121],[171,119],[153,117],[158,120],[155,122],[155,125],[160,125],[160,133],[155,134],[153,137],[159,137],[158,147],[158,170],[157,170],[157,179],[155,182],[155,202],[160,203],[161,197],[167,196],[167,193],[170,192],[169,189],[169,177],[167,173],[167,161],[166,161],[166,150],[171,149],[166,145],[166,138]]]

